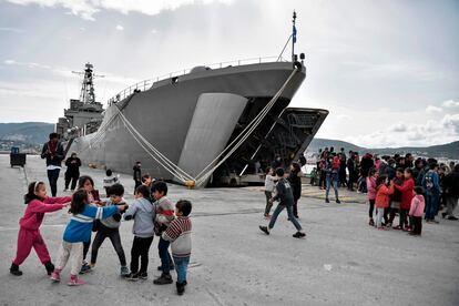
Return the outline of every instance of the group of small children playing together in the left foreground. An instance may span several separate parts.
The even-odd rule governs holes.
[[[114,183],[106,188],[109,200],[101,201],[94,190],[94,182],[90,176],[81,176],[78,190],[72,196],[49,197],[43,182],[29,184],[24,195],[27,208],[19,221],[17,256],[12,261],[10,273],[20,276],[19,266],[30,254],[33,247],[44,265],[52,282],[61,280],[62,269],[70,261],[70,278],[68,285],[83,285],[79,274],[94,268],[98,251],[105,238],[110,238],[120,261],[120,275],[129,280],[147,278],[149,251],[154,235],[160,236],[159,254],[162,274],[153,283],[156,285],[172,284],[170,271],[177,274],[176,290],[182,295],[185,290],[186,271],[191,256],[192,223],[188,215],[192,204],[187,200],[180,200],[174,204],[166,197],[165,182],[152,183],[150,175],[142,177],[143,184],[135,188],[135,200],[128,205],[123,198],[124,187]],[[62,242],[59,247],[55,266],[51,263],[47,245],[40,233],[40,225],[45,213],[70,207],[70,221],[65,226]],[[131,264],[128,267],[120,237],[120,224],[133,220],[134,235],[131,248]],[[91,261],[85,261],[91,246],[91,234],[96,232],[92,241]],[[169,253],[171,244],[172,256]],[[139,266],[140,261],[140,266]]]

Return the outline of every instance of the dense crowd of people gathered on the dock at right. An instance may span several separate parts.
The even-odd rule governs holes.
[[[459,197],[459,164],[438,163],[436,159],[417,157],[410,153],[394,156],[349,151],[344,147],[319,150],[310,183],[326,190],[329,202],[330,186],[336,202],[339,187],[365,193],[369,202],[369,225],[377,228],[395,228],[420,235],[421,218],[438,223],[442,218],[457,221],[455,210]],[[375,223],[376,207],[376,223]],[[392,226],[396,215],[399,224]]]

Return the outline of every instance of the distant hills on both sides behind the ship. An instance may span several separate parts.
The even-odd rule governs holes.
[[[32,145],[42,144],[48,141],[48,135],[54,131],[54,124],[44,122],[22,122],[22,123],[0,123],[0,141],[8,143],[29,143]],[[377,154],[405,154],[412,153],[415,155],[435,156],[459,160],[459,141],[432,145],[432,146],[404,146],[404,147],[380,147],[369,149],[355,145],[349,142],[328,139],[314,139],[306,152],[318,152],[322,147],[334,146],[336,151],[344,147],[346,152],[349,150],[360,153],[371,152]]]

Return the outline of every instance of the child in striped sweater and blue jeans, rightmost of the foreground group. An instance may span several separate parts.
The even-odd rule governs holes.
[[[177,272],[177,294],[183,295],[186,286],[186,269],[191,256],[191,231],[192,223],[188,215],[192,211],[190,201],[181,200],[175,204],[176,218],[171,222],[162,238],[171,242],[172,257],[174,258],[175,271]]]

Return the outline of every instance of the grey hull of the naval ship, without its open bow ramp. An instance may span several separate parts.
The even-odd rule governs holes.
[[[164,167],[164,162],[159,162],[157,155],[145,150],[145,143],[142,147],[136,132],[195,177],[234,136],[251,103],[266,105],[292,73],[292,63],[275,62],[200,71],[156,82],[149,90],[111,103],[103,129],[75,139],[70,152],[76,152],[85,164],[122,173],[132,172],[133,164],[140,161],[143,173],[183,182]],[[293,75],[269,118],[284,111],[305,75],[304,68]],[[130,132],[120,112],[136,132]]]

